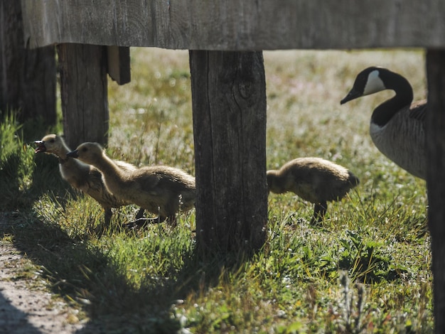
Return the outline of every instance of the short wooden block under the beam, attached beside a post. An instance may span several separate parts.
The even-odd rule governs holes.
[[[107,72],[118,85],[124,85],[131,80],[130,48],[126,46],[107,47]]]

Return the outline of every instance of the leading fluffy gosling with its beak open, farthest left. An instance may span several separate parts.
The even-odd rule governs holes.
[[[124,200],[118,199],[116,196],[109,193],[105,188],[102,181],[102,173],[100,171],[86,163],[82,163],[77,159],[73,159],[67,156],[67,153],[71,150],[65,144],[65,141],[61,136],[55,134],[48,134],[44,136],[42,140],[36,140],[34,143],[37,145],[35,153],[51,153],[59,158],[59,170],[60,174],[65,181],[68,181],[74,188],[82,190],[83,193],[90,195],[92,198],[104,208],[104,222],[109,225],[112,217],[112,208],[119,208],[122,205],[132,204]],[[124,161],[115,161],[119,168],[123,168],[126,171],[136,169],[130,163]],[[144,215],[144,210],[139,210],[136,215],[136,219],[141,218]]]

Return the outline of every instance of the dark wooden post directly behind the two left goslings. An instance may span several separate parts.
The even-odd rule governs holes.
[[[63,131],[68,146],[84,141],[107,144],[107,48],[58,45]]]

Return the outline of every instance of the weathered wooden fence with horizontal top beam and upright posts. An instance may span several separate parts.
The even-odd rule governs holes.
[[[56,44],[59,54],[75,55],[75,59],[64,63],[66,74],[82,63],[102,64],[101,59],[107,58],[104,55],[110,50],[103,45],[121,47],[123,55],[124,48],[129,46],[191,50],[193,122],[205,124],[194,126],[197,237],[204,248],[209,244],[225,250],[243,244],[257,248],[264,242],[261,229],[267,221],[267,190],[262,119],[266,117],[266,93],[262,50],[426,48],[427,188],[435,330],[445,333],[445,1],[21,0],[21,4],[24,40],[31,48]],[[128,79],[128,59],[117,54],[107,68],[118,69]],[[97,82],[104,77],[101,66],[95,66]],[[233,68],[243,68],[244,72],[240,75]],[[232,87],[223,80],[227,76],[234,79]],[[84,79],[70,75],[66,78],[63,90],[76,90],[70,87]],[[198,93],[197,85],[205,78],[205,85],[199,87],[205,92]],[[97,84],[97,90],[100,89],[103,86]],[[227,95],[234,91],[234,95]],[[106,92],[101,94],[102,117],[107,117]],[[97,99],[97,92],[94,95]],[[77,95],[75,107],[86,105],[78,99],[91,98],[88,94]],[[70,103],[63,106],[64,113],[75,118],[91,117],[97,112],[71,110]],[[240,113],[245,117],[242,122]],[[260,131],[251,131],[250,121]],[[230,142],[244,145],[224,145],[227,134],[223,131],[229,126]],[[211,133],[206,132],[208,129]],[[65,127],[65,131],[69,129]],[[250,158],[237,160],[246,151]],[[223,169],[218,171],[222,177],[209,177],[217,172],[215,166]],[[227,175],[235,178],[237,184]],[[252,176],[256,182],[252,182]],[[233,203],[235,209],[230,207]],[[228,237],[221,238],[224,233]],[[232,235],[235,242],[230,239]]]

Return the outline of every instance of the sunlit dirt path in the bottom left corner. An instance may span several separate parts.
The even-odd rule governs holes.
[[[0,214],[0,237],[6,222]],[[100,333],[77,318],[77,310],[55,298],[29,260],[11,242],[0,238],[0,333]],[[25,274],[26,273],[26,274]]]

